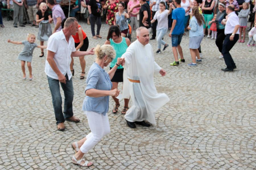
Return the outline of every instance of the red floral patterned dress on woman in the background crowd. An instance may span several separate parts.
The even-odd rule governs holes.
[[[110,1],[107,1],[106,4],[109,5],[107,8],[106,23],[108,25],[114,25],[114,19],[115,19],[116,13],[118,12],[119,1],[116,0],[116,2],[113,4],[111,4]]]

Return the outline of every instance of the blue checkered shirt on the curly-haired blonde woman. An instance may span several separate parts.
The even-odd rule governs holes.
[[[101,68],[96,62],[91,66],[87,79],[86,79],[86,90],[97,89],[97,90],[111,90],[112,82],[107,72]],[[90,97],[86,96],[83,102],[84,111],[93,111],[96,113],[103,114],[104,116],[108,112],[109,108],[109,96],[102,97]]]

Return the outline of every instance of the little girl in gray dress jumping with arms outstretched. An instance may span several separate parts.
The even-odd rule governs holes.
[[[35,42],[35,35],[34,34],[29,34],[27,41],[11,41],[10,39],[7,42],[11,42],[13,44],[24,44],[24,48],[21,53],[18,55],[18,59],[21,60],[21,70],[23,72],[23,80],[26,79],[26,73],[25,73],[25,63],[27,61],[27,65],[29,68],[29,80],[32,80],[32,67],[31,67],[31,61],[32,61],[32,54],[35,49],[35,47],[38,48],[47,48],[47,46],[42,46],[42,45],[37,45]]]

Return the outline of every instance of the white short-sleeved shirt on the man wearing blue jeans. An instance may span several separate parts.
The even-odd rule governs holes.
[[[67,42],[63,30],[54,33],[48,40],[47,50],[55,53],[53,60],[55,61],[59,71],[65,76],[68,74],[69,80],[72,77],[70,71],[71,53],[75,51],[75,41],[72,36],[69,37]],[[49,62],[45,62],[45,73],[47,76],[57,79],[57,74],[53,71]]]

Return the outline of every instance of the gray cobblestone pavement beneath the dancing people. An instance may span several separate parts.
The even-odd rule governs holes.
[[[104,43],[107,25],[101,28],[103,38],[94,40],[90,27],[80,24],[89,37],[89,47]],[[79,59],[75,59],[73,83],[74,114],[81,122],[65,122],[67,129],[57,131],[44,73],[46,58],[39,58],[40,49],[36,48],[32,61],[34,78],[22,80],[17,56],[23,45],[7,43],[8,38],[23,41],[27,33],[37,35],[38,29],[29,25],[14,28],[6,18],[4,25],[0,28],[0,169],[86,169],[71,161],[71,143],[90,132],[81,111],[86,81],[79,79]],[[171,39],[166,35],[164,40],[170,47],[155,55],[155,60],[167,75],[155,76],[155,85],[170,101],[157,111],[157,125],[127,127],[120,110],[118,114],[111,113],[111,98],[111,133],[85,154],[94,162],[89,169],[256,169],[256,47],[237,43],[231,51],[237,70],[224,73],[224,60],[218,59],[213,40],[203,39],[203,63],[197,67],[186,66],[191,62],[188,35],[181,42],[186,62],[178,67],[169,65],[174,61]],[[156,40],[150,43],[156,51]],[[95,56],[85,58],[88,72]]]

